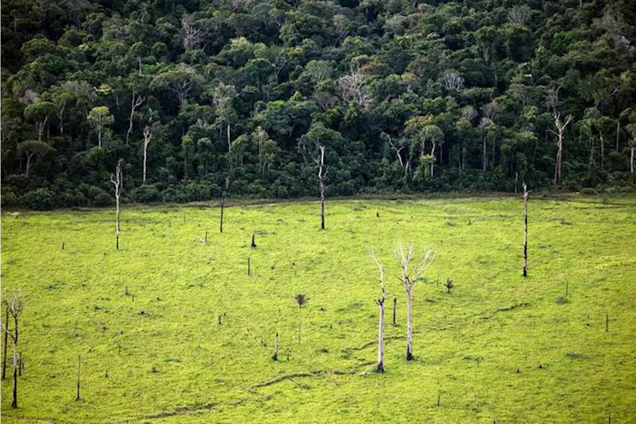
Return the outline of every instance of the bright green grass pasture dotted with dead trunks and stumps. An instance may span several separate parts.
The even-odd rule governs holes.
[[[226,208],[223,234],[216,206],[121,216],[120,251],[111,210],[0,216],[0,286],[25,300],[0,421],[636,421],[635,199],[530,199],[528,278],[520,199],[328,202],[324,232],[315,202]],[[437,251],[412,362],[399,241]],[[371,248],[397,296],[384,374]]]

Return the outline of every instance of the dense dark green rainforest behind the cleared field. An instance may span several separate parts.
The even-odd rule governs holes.
[[[328,195],[629,187],[634,22],[630,0],[3,0],[0,206],[110,204],[120,159],[127,201],[317,195],[319,146]]]

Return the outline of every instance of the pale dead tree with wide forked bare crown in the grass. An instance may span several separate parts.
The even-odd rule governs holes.
[[[413,268],[410,267],[410,264],[414,254],[415,247],[413,247],[413,244],[408,246],[408,250],[405,250],[404,246],[397,246],[395,249],[397,262],[399,262],[402,268],[401,281],[404,285],[404,290],[406,290],[406,360],[408,361],[413,359],[413,316],[411,314],[413,286],[415,286],[417,280],[422,277],[424,271],[432,264],[435,258],[435,252],[429,247],[417,267]]]

